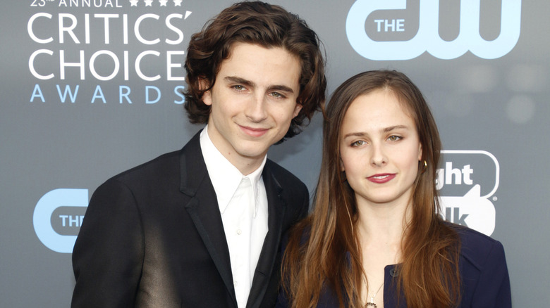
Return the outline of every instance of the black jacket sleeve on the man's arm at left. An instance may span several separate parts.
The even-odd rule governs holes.
[[[133,307],[143,255],[133,193],[111,179],[92,195],[73,249],[71,307]]]

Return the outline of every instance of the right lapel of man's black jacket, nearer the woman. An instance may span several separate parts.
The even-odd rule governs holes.
[[[274,263],[279,254],[279,243],[283,226],[283,217],[286,201],[282,198],[283,188],[270,172],[269,161],[262,172],[265,190],[267,193],[267,226],[269,230],[265,236],[262,252],[252,280],[252,288],[248,296],[247,308],[257,308],[264,299],[265,292],[274,270]]]

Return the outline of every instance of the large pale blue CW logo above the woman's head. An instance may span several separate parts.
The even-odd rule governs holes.
[[[373,41],[365,32],[365,23],[370,13],[379,10],[405,10],[406,0],[355,1],[346,20],[346,34],[353,49],[371,60],[410,60],[424,51],[436,58],[448,60],[458,58],[468,50],[479,58],[495,59],[510,52],[520,38],[521,0],[502,0],[501,31],[499,37],[493,41],[486,41],[479,34],[481,0],[460,1],[460,32],[453,41],[444,41],[439,37],[439,0],[419,1],[418,32],[408,41]],[[377,20],[371,26],[379,29],[381,22],[382,20]],[[394,29],[395,24],[392,25]],[[406,25],[406,20],[398,20],[400,30]]]

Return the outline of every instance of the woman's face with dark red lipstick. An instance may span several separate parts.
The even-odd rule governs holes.
[[[355,98],[340,131],[341,168],[357,205],[407,205],[422,146],[415,122],[385,89]]]

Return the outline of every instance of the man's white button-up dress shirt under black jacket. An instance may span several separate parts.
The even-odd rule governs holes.
[[[200,133],[200,148],[224,223],[238,307],[245,308],[268,229],[262,179],[267,156],[258,169],[244,176],[214,146],[207,129]]]

